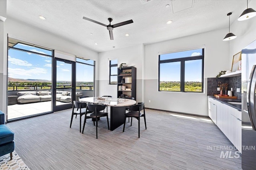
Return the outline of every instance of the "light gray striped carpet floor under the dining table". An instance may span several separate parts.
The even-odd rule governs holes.
[[[142,120],[138,138],[136,119],[123,133],[123,126],[109,131],[104,117],[98,139],[91,120],[82,134],[79,118],[71,129],[70,118],[66,110],[7,124],[16,152],[31,170],[241,170],[241,156],[220,158],[221,151],[236,150],[207,149],[233,146],[208,118],[146,109],[147,130]]]

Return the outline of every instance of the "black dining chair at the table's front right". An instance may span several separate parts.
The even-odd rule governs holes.
[[[143,113],[140,112],[142,110],[143,110]],[[135,117],[136,119],[138,119],[138,121],[139,121],[138,122],[138,133],[139,133],[139,137],[140,137],[140,117],[144,117],[145,128],[147,129],[144,102],[140,102],[136,105],[130,106],[129,112],[125,113],[124,127],[125,127],[126,117]],[[132,125],[132,119],[131,119],[131,125]],[[123,128],[123,132],[124,132],[124,128]]]

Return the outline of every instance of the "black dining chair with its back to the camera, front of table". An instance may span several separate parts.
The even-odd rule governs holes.
[[[86,111],[90,111],[91,114],[89,116],[85,116],[84,118],[84,126],[83,126],[82,133],[84,133],[86,119],[94,118],[96,120],[96,139],[98,139],[98,117],[107,117],[107,122],[108,122],[108,113],[102,112],[102,110],[104,110],[105,107],[106,107],[105,105],[100,105],[100,104],[89,104],[89,103],[87,104]],[[108,123],[108,130],[109,130],[109,123]]]

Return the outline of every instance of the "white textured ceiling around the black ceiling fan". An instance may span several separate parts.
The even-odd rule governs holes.
[[[7,0],[7,19],[19,20],[103,52],[222,28],[227,28],[228,33],[228,12],[233,13],[230,16],[230,23],[233,23],[246,9],[245,0],[188,0],[190,5],[192,1],[192,8],[185,10],[175,6],[180,4],[178,1],[188,8],[186,0]],[[166,8],[166,4],[170,6]],[[46,20],[39,19],[39,15]],[[127,20],[134,23],[114,28],[114,40],[110,40],[106,27],[83,20],[83,17],[106,25],[108,18],[113,19],[112,25]],[[173,23],[167,25],[168,20]],[[126,37],[126,33],[130,36]]]

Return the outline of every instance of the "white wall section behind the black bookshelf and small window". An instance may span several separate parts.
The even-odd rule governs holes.
[[[128,66],[135,66],[137,70],[136,100],[142,101],[142,71],[144,59],[144,45],[135,45],[122,49],[99,53],[99,91],[96,96],[110,95],[117,97],[117,85],[109,84],[109,59],[118,59],[118,66],[127,63]]]

